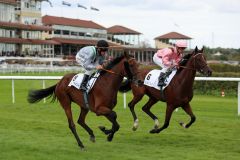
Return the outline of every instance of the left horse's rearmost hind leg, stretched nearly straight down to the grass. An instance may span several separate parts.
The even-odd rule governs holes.
[[[66,115],[67,115],[69,128],[70,128],[70,130],[72,131],[74,137],[76,138],[77,143],[78,143],[78,146],[79,146],[81,149],[83,149],[84,146],[83,146],[80,138],[78,137],[78,134],[77,134],[77,131],[76,131],[76,128],[75,128],[75,124],[74,124],[74,122],[73,122],[72,111],[71,111],[70,106],[64,108],[64,110],[65,110],[65,113],[66,113]]]

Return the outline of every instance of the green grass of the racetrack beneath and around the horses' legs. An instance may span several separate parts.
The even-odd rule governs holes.
[[[47,81],[46,86],[56,81]],[[122,94],[118,96],[115,111],[120,130],[112,142],[98,126],[111,126],[105,117],[89,113],[87,123],[93,129],[96,143],[79,125],[78,134],[86,146],[81,151],[71,134],[66,116],[59,103],[28,104],[27,91],[41,88],[41,81],[15,81],[16,103],[11,100],[11,81],[0,80],[0,159],[1,160],[152,160],[152,159],[227,159],[240,157],[240,117],[237,116],[237,98],[196,95],[191,105],[197,121],[189,129],[179,126],[189,117],[180,109],[174,112],[170,126],[160,134],[149,134],[153,121],[141,111],[146,97],[136,106],[140,126],[131,130],[132,117],[123,108]],[[130,92],[127,101],[131,99]],[[79,108],[72,107],[77,121]],[[165,104],[157,103],[152,111],[162,124]]]

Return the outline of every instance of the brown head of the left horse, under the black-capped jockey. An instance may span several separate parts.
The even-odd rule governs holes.
[[[142,85],[143,81],[139,77],[138,62],[126,52],[124,53],[124,57],[126,59],[124,61],[124,75],[128,78],[128,80],[133,81],[136,85]]]

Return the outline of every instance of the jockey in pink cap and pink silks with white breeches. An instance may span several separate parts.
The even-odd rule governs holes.
[[[164,83],[166,72],[170,71],[173,67],[178,66],[185,48],[187,48],[187,42],[185,40],[179,40],[176,42],[175,47],[163,48],[154,54],[153,62],[162,68],[162,72],[158,78],[158,86],[166,85]]]

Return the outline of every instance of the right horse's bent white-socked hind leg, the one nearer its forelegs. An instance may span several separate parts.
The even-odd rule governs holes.
[[[158,118],[150,111],[151,107],[157,102],[156,99],[149,98],[148,102],[143,106],[142,110],[154,120],[154,128],[159,127]]]

